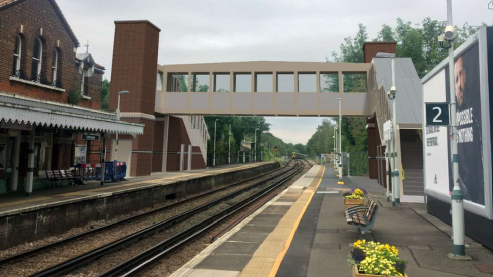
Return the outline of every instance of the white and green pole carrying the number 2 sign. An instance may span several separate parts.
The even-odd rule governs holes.
[[[452,0],[447,0],[447,25],[452,25]],[[464,196],[459,186],[459,160],[457,151],[457,116],[455,101],[454,45],[449,41],[449,81],[450,81],[450,127],[452,129],[452,170],[454,188],[452,190],[452,234],[454,252],[452,256],[466,257],[464,247]]]

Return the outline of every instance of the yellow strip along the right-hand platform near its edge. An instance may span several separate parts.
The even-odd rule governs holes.
[[[240,277],[274,277],[276,275],[300,225],[300,221],[322,182],[324,173],[325,167],[321,167],[310,186],[298,197],[288,212],[281,218],[274,231],[257,249],[250,262],[239,275]],[[317,178],[319,178],[318,183],[313,186]],[[296,219],[292,220],[295,216],[297,216]]]

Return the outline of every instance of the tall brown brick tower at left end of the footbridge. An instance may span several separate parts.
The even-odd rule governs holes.
[[[115,21],[109,108],[116,109],[118,91],[128,90],[120,100],[121,119],[145,124],[144,134],[133,140],[133,176],[150,175],[152,169],[160,31],[146,20]]]

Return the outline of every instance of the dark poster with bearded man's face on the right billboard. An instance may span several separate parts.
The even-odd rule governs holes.
[[[454,63],[459,158],[459,186],[464,199],[484,205],[479,46],[466,50]],[[449,94],[449,92],[447,92]],[[452,167],[450,164],[452,191]]]

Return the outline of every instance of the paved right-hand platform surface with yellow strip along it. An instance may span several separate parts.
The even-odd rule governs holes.
[[[346,224],[341,191],[360,186],[380,205],[365,239],[395,245],[408,276],[491,276],[493,252],[470,238],[466,252],[473,261],[447,258],[451,227],[428,214],[425,204],[392,207],[384,188],[368,178],[337,181],[333,168],[315,165],[171,277],[353,276],[348,255],[360,235]]]

